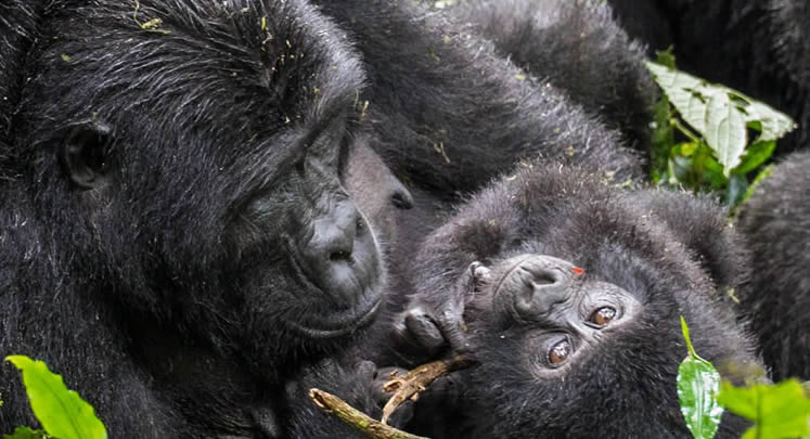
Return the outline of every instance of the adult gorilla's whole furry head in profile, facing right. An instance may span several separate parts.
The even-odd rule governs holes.
[[[44,223],[136,322],[262,374],[338,349],[384,276],[343,182],[357,56],[305,2],[136,4],[49,11],[16,141]]]

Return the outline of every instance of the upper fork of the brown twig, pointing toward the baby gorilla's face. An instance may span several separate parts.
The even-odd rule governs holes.
[[[388,424],[388,417],[406,401],[416,401],[421,392],[436,380],[436,378],[449,375],[453,371],[466,369],[475,364],[472,359],[455,356],[447,360],[434,361],[409,371],[404,376],[393,376],[383,389],[394,392],[394,396],[383,408],[383,425]]]

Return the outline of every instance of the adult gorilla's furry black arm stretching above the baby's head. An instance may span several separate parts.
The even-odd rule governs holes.
[[[496,47],[409,1],[326,1],[320,10],[361,52],[372,145],[406,183],[454,197],[517,158],[543,156],[643,178],[621,137],[558,89],[526,77]]]

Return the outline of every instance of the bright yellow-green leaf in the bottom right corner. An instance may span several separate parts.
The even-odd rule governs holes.
[[[744,439],[783,439],[810,435],[810,399],[796,379],[748,388],[721,385],[723,406],[754,422]]]

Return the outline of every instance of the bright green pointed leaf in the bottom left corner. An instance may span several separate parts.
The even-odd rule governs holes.
[[[25,356],[9,356],[5,360],[23,372],[31,410],[49,435],[60,439],[106,439],[107,431],[93,408],[79,393],[68,390],[62,376],[49,371],[44,362]]]

